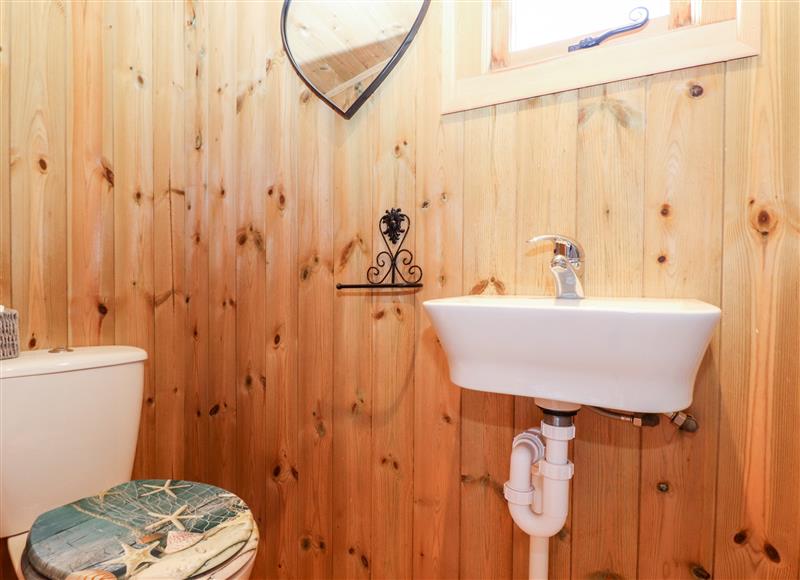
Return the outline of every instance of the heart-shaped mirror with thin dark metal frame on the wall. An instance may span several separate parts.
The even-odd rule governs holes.
[[[349,119],[408,49],[429,3],[285,0],[283,47],[308,88]]]

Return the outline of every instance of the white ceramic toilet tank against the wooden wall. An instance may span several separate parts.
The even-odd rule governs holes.
[[[0,361],[0,538],[130,479],[146,359],[98,346]]]

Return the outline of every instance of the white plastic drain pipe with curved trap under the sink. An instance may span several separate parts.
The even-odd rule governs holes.
[[[545,423],[514,438],[510,478],[503,490],[511,518],[531,536],[528,574],[532,580],[546,580],[548,539],[567,521],[569,480],[574,467],[568,459],[569,441],[575,426]],[[542,441],[544,439],[544,442]]]

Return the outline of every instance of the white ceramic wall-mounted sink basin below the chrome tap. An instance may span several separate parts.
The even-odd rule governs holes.
[[[468,389],[666,413],[692,402],[720,310],[699,300],[462,296],[425,310]]]

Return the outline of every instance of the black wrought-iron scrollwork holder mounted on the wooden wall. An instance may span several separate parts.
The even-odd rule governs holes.
[[[367,268],[364,284],[337,284],[337,290],[368,288],[422,288],[422,268],[414,263],[414,254],[403,247],[411,220],[400,208],[387,209],[378,221],[386,249],[375,256],[375,265]]]

